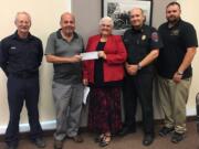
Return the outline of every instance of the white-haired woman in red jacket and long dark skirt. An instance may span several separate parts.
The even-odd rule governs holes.
[[[84,84],[91,87],[88,128],[97,130],[101,147],[109,143],[112,134],[122,127],[121,86],[126,50],[119,35],[112,34],[113,20],[100,21],[100,34],[91,36],[86,52],[98,52],[98,60],[84,63]]]

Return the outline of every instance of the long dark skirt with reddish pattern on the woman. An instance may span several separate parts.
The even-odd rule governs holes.
[[[97,132],[118,132],[122,128],[121,87],[92,88],[88,128]]]

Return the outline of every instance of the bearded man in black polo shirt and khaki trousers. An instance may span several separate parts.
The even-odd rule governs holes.
[[[186,132],[186,104],[192,77],[191,62],[198,46],[192,24],[180,19],[180,4],[166,7],[167,22],[159,26],[164,47],[157,60],[158,95],[165,114],[159,135],[174,131],[171,141],[179,142]]]

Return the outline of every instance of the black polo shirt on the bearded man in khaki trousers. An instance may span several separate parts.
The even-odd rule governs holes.
[[[195,28],[182,20],[172,26],[168,26],[168,22],[159,26],[159,35],[163,39],[164,47],[159,51],[157,60],[158,74],[166,78],[172,78],[178,71],[187,47],[198,46]],[[185,72],[182,78],[192,75],[191,66]]]

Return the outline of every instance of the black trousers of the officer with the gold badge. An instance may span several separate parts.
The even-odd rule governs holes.
[[[145,134],[154,135],[153,75],[126,76],[124,85],[125,126],[136,127],[137,98],[142,106]]]

